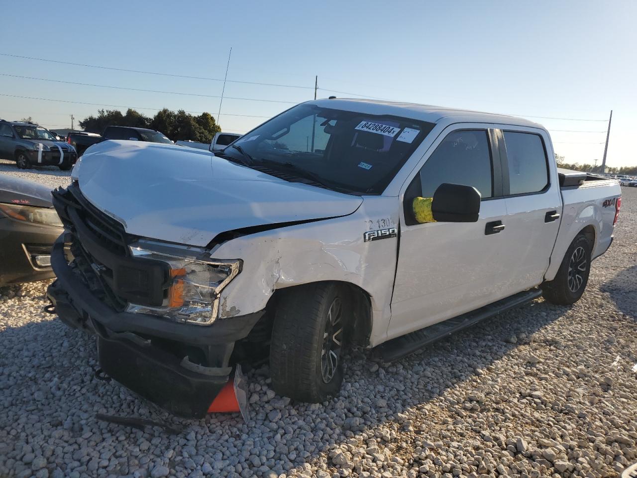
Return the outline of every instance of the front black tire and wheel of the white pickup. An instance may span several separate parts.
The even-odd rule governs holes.
[[[349,317],[343,287],[331,282],[285,293],[276,308],[270,344],[276,393],[310,403],[325,402],[338,393]]]

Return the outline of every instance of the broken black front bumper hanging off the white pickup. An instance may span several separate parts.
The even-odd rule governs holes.
[[[199,326],[110,307],[64,257],[64,235],[54,244],[57,280],[47,296],[62,321],[97,335],[99,365],[120,384],[183,417],[201,418],[232,373],[234,343],[264,314]]]

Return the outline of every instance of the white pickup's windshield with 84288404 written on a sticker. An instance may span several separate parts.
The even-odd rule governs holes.
[[[381,194],[434,124],[298,105],[234,141],[224,154],[337,191]]]

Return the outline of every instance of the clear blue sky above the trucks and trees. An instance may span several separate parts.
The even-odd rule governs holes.
[[[59,1],[3,2],[0,53],[114,68],[284,83],[227,83],[225,95],[292,103],[332,91],[543,117],[607,119],[607,164],[637,164],[637,2]],[[218,96],[222,82],[0,56],[3,75]],[[217,116],[218,98],[0,75],[0,94]],[[327,91],[331,90],[331,91]],[[224,99],[222,113],[270,117],[292,103]],[[0,96],[0,117],[69,126],[100,106]],[[111,108],[112,109],[112,108]],[[123,109],[123,108],[122,108]],[[223,115],[247,131],[264,119]],[[601,161],[606,122],[534,119],[567,161]]]

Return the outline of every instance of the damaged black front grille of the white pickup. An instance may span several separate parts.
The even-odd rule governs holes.
[[[83,281],[107,300],[124,310],[127,303],[159,307],[169,284],[168,264],[132,257],[124,226],[89,203],[76,184],[54,191],[54,205],[62,222],[71,231],[71,264]]]

